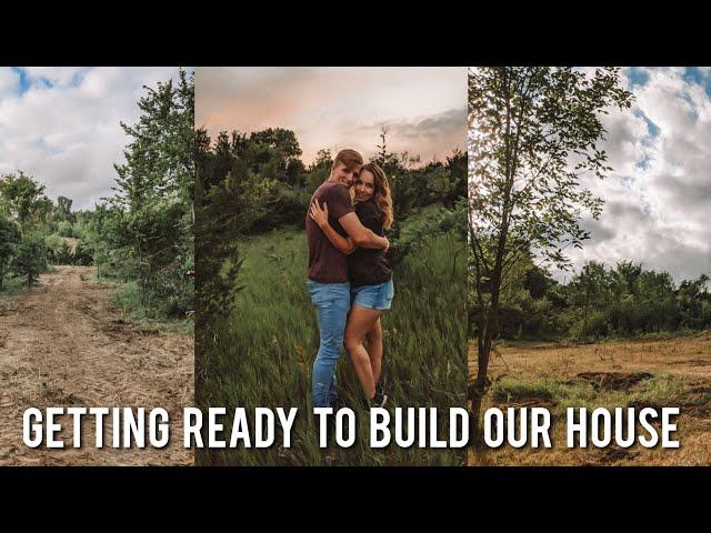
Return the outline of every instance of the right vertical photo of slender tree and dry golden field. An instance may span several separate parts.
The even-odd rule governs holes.
[[[710,110],[705,68],[469,70],[470,465],[711,463]]]

